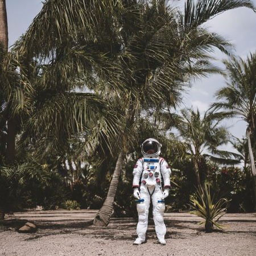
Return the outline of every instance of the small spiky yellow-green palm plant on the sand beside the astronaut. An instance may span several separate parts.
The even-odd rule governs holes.
[[[225,214],[225,210],[228,209],[230,201],[224,197],[220,189],[214,193],[210,193],[210,184],[204,184],[204,191],[200,193],[197,189],[196,195],[191,196],[190,205],[193,212],[191,214],[196,214],[197,216],[204,218],[205,221],[199,222],[198,224],[205,224],[205,231],[211,233],[213,225],[217,229],[222,229],[224,225],[220,225],[217,221]]]

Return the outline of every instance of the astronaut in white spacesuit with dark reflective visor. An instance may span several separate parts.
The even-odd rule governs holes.
[[[153,204],[153,218],[155,222],[155,231],[158,236],[158,242],[166,244],[164,235],[166,234],[166,225],[164,225],[164,199],[169,195],[171,188],[170,174],[166,160],[160,158],[160,144],[156,139],[146,139],[141,145],[143,158],[140,158],[133,170],[133,189],[134,197],[137,200],[138,238],[134,245],[140,245],[146,242],[146,232],[148,223],[148,209],[150,207],[150,197]],[[162,177],[164,188],[162,189]],[[140,182],[141,181],[141,182]],[[141,183],[141,185],[139,185]]]

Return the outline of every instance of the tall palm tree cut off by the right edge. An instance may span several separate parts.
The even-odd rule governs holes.
[[[216,92],[217,102],[212,105],[214,109],[224,109],[231,115],[241,117],[246,123],[246,138],[248,142],[251,174],[254,179],[255,210],[256,210],[256,168],[251,146],[251,139],[255,141],[256,124],[256,53],[244,61],[241,57],[232,57],[224,60],[229,81],[224,88]]]

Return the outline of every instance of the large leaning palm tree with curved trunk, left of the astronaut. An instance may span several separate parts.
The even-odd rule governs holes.
[[[138,5],[141,11],[137,15],[137,20],[133,16],[136,27],[131,26],[133,24],[131,21],[130,30],[125,30],[125,24],[119,24],[124,42],[119,51],[121,55],[119,59],[124,60],[120,65],[125,64],[124,84],[127,84],[125,88],[130,93],[128,96],[127,92],[119,93],[122,95],[122,102],[118,104],[118,109],[123,110],[125,127],[130,132],[136,123],[135,120],[138,120],[143,113],[161,115],[164,109],[178,105],[181,102],[181,93],[185,89],[185,82],[189,82],[192,76],[219,72],[218,68],[208,62],[207,52],[217,47],[227,53],[230,44],[220,36],[210,34],[201,25],[221,11],[245,4],[245,2],[233,2],[234,5],[230,5],[226,1],[220,2],[207,1],[204,5],[201,1],[197,4],[187,1],[183,16],[175,13],[171,7],[165,6],[164,1],[152,1],[152,6],[148,6],[146,1],[141,1],[141,5]],[[246,2],[246,6],[249,7],[250,3]],[[129,18],[129,15],[126,14],[126,18]],[[140,24],[139,29],[138,24]],[[130,35],[130,40],[127,35]],[[132,134],[135,133],[130,133]],[[118,141],[118,146],[121,146],[120,154],[115,169],[117,172],[114,172],[117,176],[113,176],[115,181],[110,185],[106,199],[108,204],[104,204],[97,214],[95,225],[108,225],[118,184],[117,177],[125,155],[123,149],[133,141],[123,139],[125,138],[123,135],[120,138],[122,138]]]

